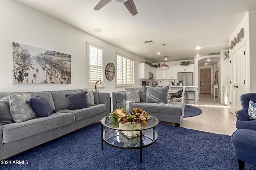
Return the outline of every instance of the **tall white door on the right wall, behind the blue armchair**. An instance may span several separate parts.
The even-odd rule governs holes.
[[[240,47],[230,56],[231,61],[231,105],[230,112],[233,114],[242,109],[240,97],[246,93],[246,49]]]

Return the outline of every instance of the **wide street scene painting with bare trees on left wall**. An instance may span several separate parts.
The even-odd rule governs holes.
[[[71,55],[12,42],[13,83],[71,83]]]

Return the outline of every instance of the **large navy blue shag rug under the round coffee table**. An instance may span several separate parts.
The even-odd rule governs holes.
[[[28,150],[1,164],[1,170],[236,170],[231,137],[159,124],[158,140],[140,150],[124,150],[104,143],[101,124],[96,123]],[[27,164],[26,164],[27,163]],[[245,164],[245,170],[255,170]]]

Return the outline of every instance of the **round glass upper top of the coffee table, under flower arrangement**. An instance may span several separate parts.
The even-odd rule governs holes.
[[[119,123],[116,122],[114,123],[112,121],[112,117],[111,116],[106,116],[104,117],[102,120],[101,120],[101,123],[102,125],[104,125],[105,127],[108,127],[110,129],[115,129],[115,130],[125,130],[125,131],[134,131],[134,130],[146,130],[146,129],[151,129],[153,127],[155,127],[156,125],[158,125],[159,121],[156,117],[154,116],[148,116],[148,123],[146,125],[143,125],[141,126],[141,128],[139,129],[133,129],[133,130],[129,130],[129,129],[126,129],[126,128],[123,128],[123,127],[119,127]]]

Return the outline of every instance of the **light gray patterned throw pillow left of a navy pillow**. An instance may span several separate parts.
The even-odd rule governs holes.
[[[10,94],[9,97],[10,113],[16,123],[38,117],[30,107],[30,104],[26,103],[30,99],[30,94]]]

